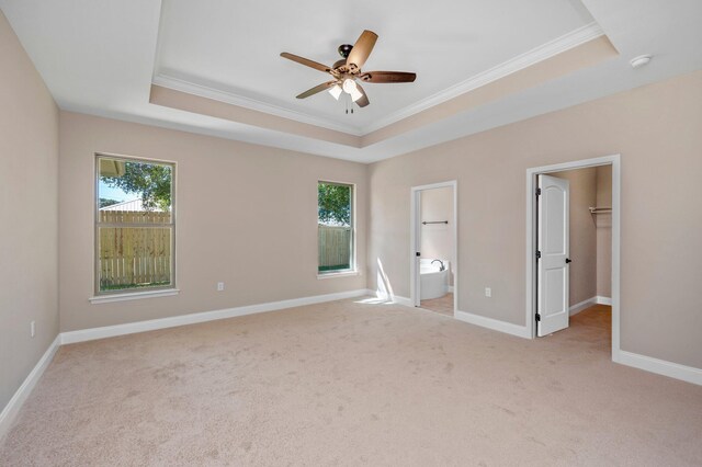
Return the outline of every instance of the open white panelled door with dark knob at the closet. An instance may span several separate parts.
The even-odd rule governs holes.
[[[536,329],[539,337],[568,327],[569,183],[539,175]]]

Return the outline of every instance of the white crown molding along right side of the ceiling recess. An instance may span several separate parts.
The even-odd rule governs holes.
[[[498,79],[505,78],[508,75],[514,73],[524,68],[529,68],[543,61],[547,58],[562,54],[589,41],[603,35],[604,32],[597,22],[586,24],[575,31],[571,31],[561,37],[557,37],[546,44],[532,48],[531,50],[521,54],[510,60],[507,60],[496,67],[492,67],[486,71],[475,75],[465,81],[454,84],[443,91],[440,91],[429,98],[400,109],[397,112],[393,112],[383,118],[378,118],[374,123],[364,126],[361,129],[363,135],[378,130],[387,125],[399,122],[404,118],[412,116],[421,111],[430,109],[434,105],[450,101],[457,98],[461,94],[473,91],[486,84],[489,84]]]

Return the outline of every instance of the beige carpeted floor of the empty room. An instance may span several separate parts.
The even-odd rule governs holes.
[[[702,387],[589,318],[530,341],[342,300],[67,345],[0,465],[701,465]]]

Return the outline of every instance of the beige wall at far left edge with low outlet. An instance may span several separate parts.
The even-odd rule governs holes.
[[[0,64],[1,411],[58,333],[58,109],[2,12]]]

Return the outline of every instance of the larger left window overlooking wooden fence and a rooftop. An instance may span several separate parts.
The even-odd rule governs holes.
[[[173,288],[172,163],[97,156],[95,294]]]

